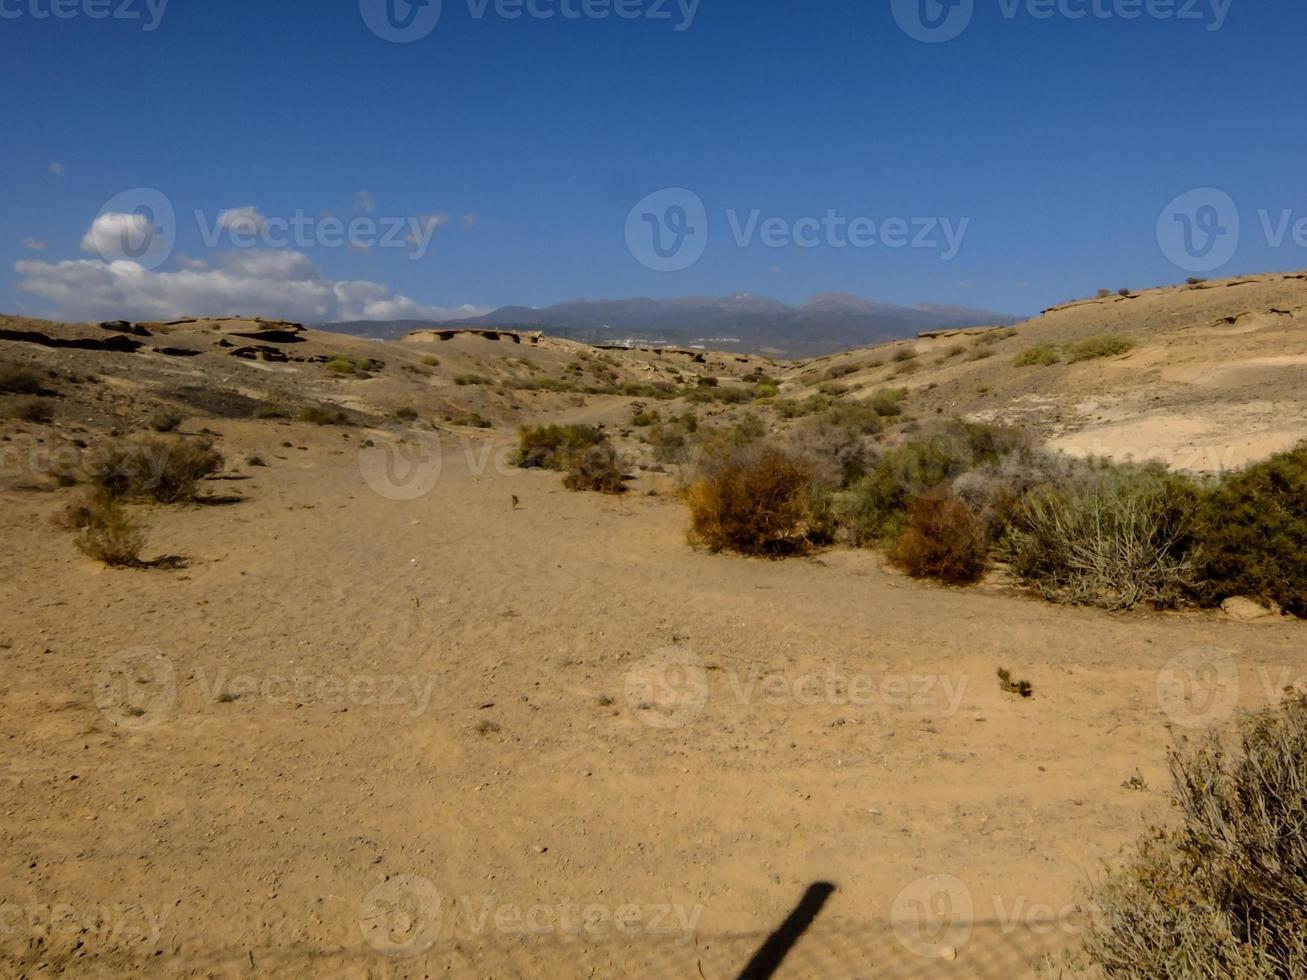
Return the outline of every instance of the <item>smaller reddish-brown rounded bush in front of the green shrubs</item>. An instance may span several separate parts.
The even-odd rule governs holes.
[[[916,579],[953,585],[984,575],[988,541],[984,529],[957,497],[920,497],[908,504],[907,528],[894,542],[891,558]]]

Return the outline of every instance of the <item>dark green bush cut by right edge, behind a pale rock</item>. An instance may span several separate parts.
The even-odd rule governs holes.
[[[1199,533],[1205,598],[1273,600],[1307,617],[1307,446],[1223,477]]]

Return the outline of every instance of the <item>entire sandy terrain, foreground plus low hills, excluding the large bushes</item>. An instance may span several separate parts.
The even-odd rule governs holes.
[[[1086,886],[1170,818],[1167,746],[1303,681],[1302,625],[708,554],[633,413],[894,385],[1214,472],[1307,438],[1304,327],[1307,273],[810,362],[0,318],[43,388],[0,395],[0,975],[715,980],[821,882],[776,976],[1074,975]],[[1136,345],[1014,365],[1103,332]],[[161,409],[225,469],[133,506],[183,567],[107,568],[52,519]],[[629,493],[512,466],[527,422],[603,425]]]

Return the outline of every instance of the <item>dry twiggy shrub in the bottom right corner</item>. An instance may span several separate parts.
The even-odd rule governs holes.
[[[1120,980],[1307,976],[1307,698],[1170,754],[1175,827],[1097,887],[1085,955]]]

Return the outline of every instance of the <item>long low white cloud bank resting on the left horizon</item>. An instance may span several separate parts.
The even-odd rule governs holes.
[[[225,252],[220,268],[184,261],[174,272],[98,259],[20,261],[21,289],[59,307],[68,320],[170,320],[182,316],[269,316],[303,323],[333,320],[447,320],[486,310],[440,308],[396,295],[380,282],[333,282],[303,253]]]

